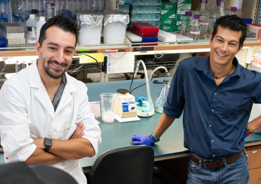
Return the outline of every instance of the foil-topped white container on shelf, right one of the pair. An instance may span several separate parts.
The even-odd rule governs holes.
[[[105,44],[124,43],[126,25],[129,24],[128,13],[103,11],[103,41]]]

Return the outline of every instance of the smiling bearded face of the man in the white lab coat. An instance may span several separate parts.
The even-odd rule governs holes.
[[[73,33],[55,26],[46,30],[46,39],[38,53],[46,74],[52,78],[60,78],[64,74],[71,65],[75,43]]]

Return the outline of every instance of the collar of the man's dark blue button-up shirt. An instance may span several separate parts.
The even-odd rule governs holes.
[[[237,60],[236,57],[234,57],[232,62],[237,68],[235,72],[232,73],[231,77],[238,75],[240,77],[241,71],[244,69],[243,66],[241,66]],[[195,67],[197,70],[204,71],[207,75],[210,68],[209,68],[209,56],[207,57],[198,57],[197,58],[197,65]]]

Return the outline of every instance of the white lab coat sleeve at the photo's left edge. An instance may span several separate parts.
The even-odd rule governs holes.
[[[1,145],[8,162],[26,161],[36,149],[30,138],[26,105],[21,91],[6,81],[0,91]]]

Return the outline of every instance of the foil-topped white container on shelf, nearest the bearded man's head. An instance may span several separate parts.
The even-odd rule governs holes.
[[[77,15],[77,21],[81,26],[79,43],[100,44],[103,14],[95,11],[81,11]]]

